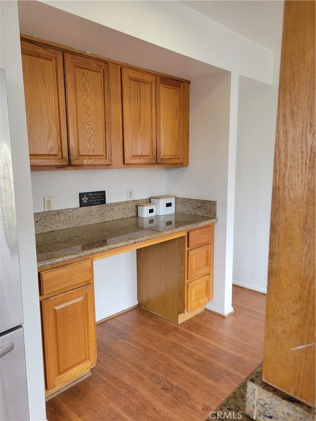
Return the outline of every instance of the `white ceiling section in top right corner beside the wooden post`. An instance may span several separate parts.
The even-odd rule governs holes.
[[[184,0],[181,3],[259,44],[280,49],[283,0]]]

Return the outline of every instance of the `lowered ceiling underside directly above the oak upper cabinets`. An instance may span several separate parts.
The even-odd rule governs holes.
[[[21,34],[188,80],[226,72],[40,1],[19,0],[18,12]]]

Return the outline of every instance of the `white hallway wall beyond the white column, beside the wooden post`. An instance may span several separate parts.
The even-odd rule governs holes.
[[[273,86],[240,80],[233,283],[263,293],[267,292],[277,94],[278,75]]]

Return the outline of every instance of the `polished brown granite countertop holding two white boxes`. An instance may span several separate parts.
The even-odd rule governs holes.
[[[38,268],[56,265],[163,235],[213,224],[216,217],[175,213],[137,216],[36,234]],[[147,221],[145,221],[147,220]],[[148,228],[147,228],[148,226]]]

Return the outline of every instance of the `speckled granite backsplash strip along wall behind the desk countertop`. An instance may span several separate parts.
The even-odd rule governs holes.
[[[98,206],[38,212],[34,214],[35,233],[40,234],[137,216],[137,205],[149,202],[150,198],[146,198]],[[214,200],[176,197],[175,210],[178,213],[216,218],[216,205],[217,202]]]

